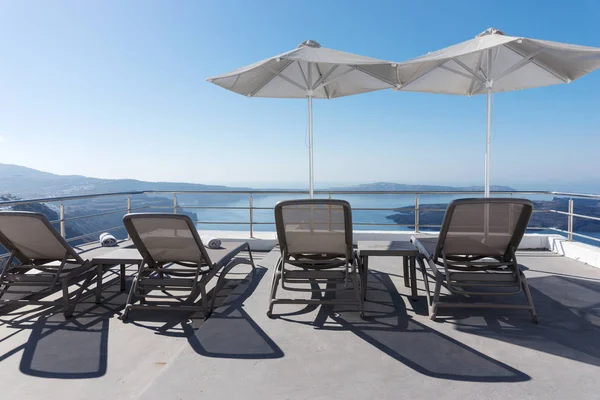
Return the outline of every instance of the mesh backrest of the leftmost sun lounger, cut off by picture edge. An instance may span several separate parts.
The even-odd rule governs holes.
[[[27,211],[0,212],[0,244],[15,252],[21,262],[68,259],[83,262],[43,214]]]

